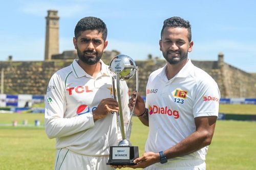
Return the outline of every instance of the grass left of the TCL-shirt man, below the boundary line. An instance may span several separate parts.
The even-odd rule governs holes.
[[[53,169],[54,139],[40,127],[0,127],[0,169]]]

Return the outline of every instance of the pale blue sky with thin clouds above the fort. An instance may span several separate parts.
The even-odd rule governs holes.
[[[58,10],[59,53],[74,50],[72,38],[79,19],[101,18],[108,27],[107,50],[135,60],[161,57],[163,20],[180,16],[192,26],[192,60],[218,60],[256,72],[256,1],[140,0],[10,0],[0,6],[0,61],[44,60],[47,10]]]

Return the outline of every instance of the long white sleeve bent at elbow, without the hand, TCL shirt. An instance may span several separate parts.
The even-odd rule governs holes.
[[[49,138],[69,136],[94,126],[92,114],[64,118],[67,101],[63,79],[55,73],[48,85],[54,87],[46,94],[45,129]]]

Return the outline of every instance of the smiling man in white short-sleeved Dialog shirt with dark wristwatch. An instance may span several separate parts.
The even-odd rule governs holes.
[[[159,45],[167,63],[148,78],[146,103],[138,98],[135,104],[135,93],[129,103],[149,126],[145,153],[134,160],[134,168],[206,169],[220,91],[214,79],[187,58],[193,44],[189,21],[164,21]]]

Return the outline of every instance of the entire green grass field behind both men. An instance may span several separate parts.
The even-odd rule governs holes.
[[[241,110],[256,114],[256,106],[250,107]],[[238,108],[227,110],[235,113]],[[0,170],[53,169],[55,140],[47,138],[44,127],[33,126],[35,119],[44,124],[44,114],[0,114],[0,124],[10,124],[14,119],[18,125],[26,119],[30,126],[0,126]],[[140,155],[144,152],[147,132],[148,128],[134,117],[131,142],[139,147]],[[255,169],[255,153],[256,122],[218,120],[206,157],[207,169]]]

